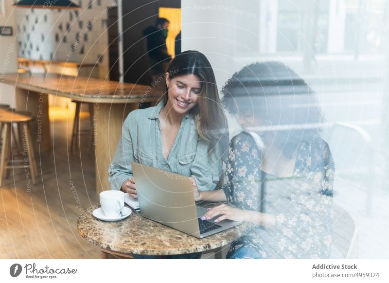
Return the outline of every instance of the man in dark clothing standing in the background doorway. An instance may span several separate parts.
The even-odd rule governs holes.
[[[166,37],[169,21],[166,18],[158,18],[156,25],[149,26],[143,31],[147,42],[147,56],[150,64],[150,74],[153,81],[157,81],[167,70],[172,56],[167,52]]]

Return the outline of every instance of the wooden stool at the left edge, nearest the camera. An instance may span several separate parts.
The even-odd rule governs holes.
[[[32,117],[14,113],[8,110],[0,109],[0,123],[1,123],[1,134],[3,137],[3,144],[1,149],[1,161],[0,161],[0,182],[3,181],[4,177],[6,177],[8,170],[11,168],[29,168],[31,172],[31,179],[33,181],[33,184],[35,184],[35,177],[36,177],[36,163],[35,163],[35,155],[34,155],[34,148],[31,141],[31,135],[29,130],[29,124],[28,122],[33,120]],[[12,124],[17,124],[18,129],[20,127],[22,128],[22,136],[20,137],[20,143],[23,143],[25,141],[26,146],[23,146],[23,156],[28,156],[28,162],[26,162],[26,159],[21,160],[14,160],[13,154],[12,154],[12,148],[10,147],[11,144],[11,132],[12,132]],[[11,158],[10,158],[11,153]],[[11,159],[11,160],[9,160]],[[8,162],[11,162],[11,164],[8,164]],[[22,162],[22,165],[15,165],[16,162]]]

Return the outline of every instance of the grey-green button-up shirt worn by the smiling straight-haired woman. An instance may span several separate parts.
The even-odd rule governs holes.
[[[212,154],[212,158],[208,155],[211,144],[199,137],[192,114],[182,118],[169,157],[167,160],[164,158],[159,121],[163,106],[163,102],[160,102],[155,107],[136,109],[128,114],[108,169],[112,190],[120,190],[123,182],[133,176],[131,162],[183,176],[194,176],[200,191],[216,188],[222,174],[222,160],[216,154]]]

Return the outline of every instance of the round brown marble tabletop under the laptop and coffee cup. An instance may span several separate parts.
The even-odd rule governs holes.
[[[229,245],[242,236],[250,224],[233,227],[203,239],[164,226],[132,211],[118,222],[96,219],[92,212],[99,205],[85,210],[77,220],[80,235],[103,250],[124,254],[174,255],[204,252]]]

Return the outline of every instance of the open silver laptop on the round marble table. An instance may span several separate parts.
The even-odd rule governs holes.
[[[190,177],[131,163],[141,214],[196,238],[204,238],[242,222],[201,220],[207,209],[195,204]]]

